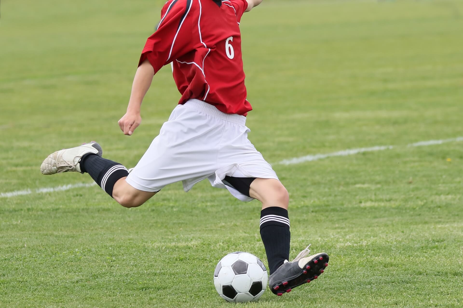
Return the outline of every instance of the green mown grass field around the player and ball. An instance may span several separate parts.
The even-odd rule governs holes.
[[[98,140],[134,166],[179,94],[155,76],[124,136],[139,53],[161,1],[1,1],[0,307],[232,307],[213,270],[266,263],[257,201],[179,183],[136,209],[88,175],[40,174],[52,151]],[[259,307],[462,307],[462,1],[268,0],[241,23],[250,139],[290,192],[294,257],[330,254],[313,284]],[[283,165],[283,159],[394,145]],[[27,195],[5,193],[31,189]]]

